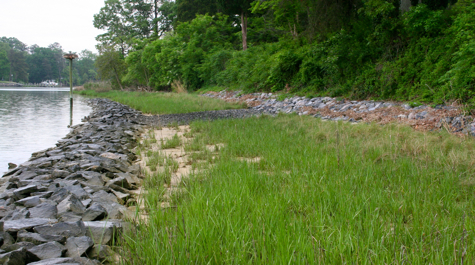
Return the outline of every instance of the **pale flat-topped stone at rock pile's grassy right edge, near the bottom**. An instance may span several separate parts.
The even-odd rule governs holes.
[[[96,221],[84,222],[86,235],[90,236],[96,244],[107,245],[121,231],[122,227],[118,221]]]

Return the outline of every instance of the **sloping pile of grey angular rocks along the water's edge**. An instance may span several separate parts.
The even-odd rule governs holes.
[[[0,179],[0,264],[100,264],[141,182],[140,112],[103,99],[54,148]]]

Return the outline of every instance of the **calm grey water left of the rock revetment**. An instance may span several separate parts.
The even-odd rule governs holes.
[[[91,108],[73,95],[73,124]],[[69,133],[69,88],[0,88],[0,176]]]

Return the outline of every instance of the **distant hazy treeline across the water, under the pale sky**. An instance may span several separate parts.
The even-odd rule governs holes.
[[[69,85],[69,62],[63,58],[57,42],[48,47],[26,45],[14,37],[0,38],[0,81],[41,83],[55,80]],[[79,53],[73,63],[73,84],[80,85],[97,80],[94,62],[97,55],[89,50]]]

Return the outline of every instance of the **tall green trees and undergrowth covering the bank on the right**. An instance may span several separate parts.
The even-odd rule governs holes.
[[[474,0],[107,0],[113,86],[474,103]]]

